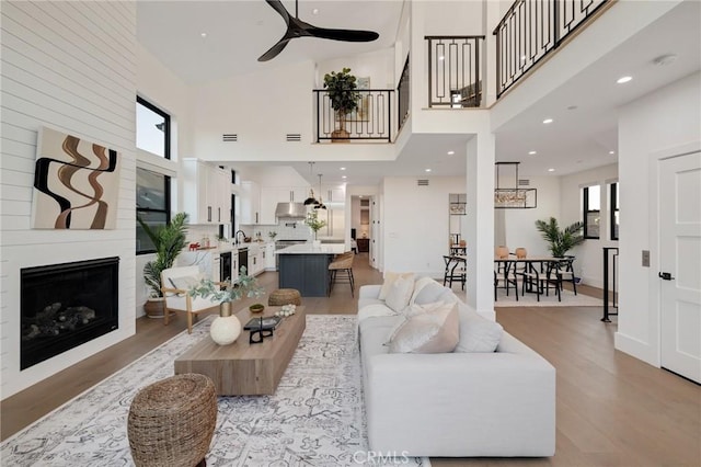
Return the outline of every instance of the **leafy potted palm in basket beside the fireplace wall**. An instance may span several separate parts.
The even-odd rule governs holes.
[[[143,266],[143,280],[150,287],[149,298],[143,310],[150,318],[163,317],[163,294],[161,292],[161,272],[173,266],[175,258],[187,244],[186,232],[187,214],[177,213],[170,224],[158,229],[151,229],[141,218],[137,217],[141,228],[149,236],[156,247],[156,259]]]

